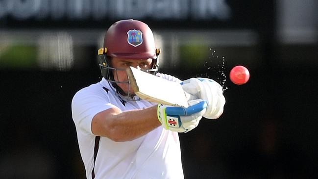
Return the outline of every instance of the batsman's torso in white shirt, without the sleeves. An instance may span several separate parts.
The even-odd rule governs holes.
[[[111,103],[122,111],[155,105],[144,100],[123,100],[106,80],[88,88],[90,91],[96,90],[105,103]],[[81,153],[91,156],[95,137],[78,135],[78,139],[82,148]],[[87,166],[91,166],[91,162],[94,163],[92,157],[86,157],[86,160],[84,163],[86,162]],[[90,169],[86,170],[87,177],[90,178]],[[140,138],[127,142],[114,142],[100,137],[94,170],[95,179],[183,178],[178,134],[158,127]]]

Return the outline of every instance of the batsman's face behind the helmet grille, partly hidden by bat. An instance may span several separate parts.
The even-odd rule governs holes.
[[[122,59],[122,58],[113,58],[111,60],[111,66],[116,69],[126,69],[128,67],[135,67],[140,70],[149,70],[152,67],[152,59]],[[117,85],[122,89],[122,91],[127,94],[129,93],[134,95],[133,89],[126,82],[128,82],[127,73],[125,70],[113,70],[113,75],[115,81],[125,82],[125,83],[117,83]]]

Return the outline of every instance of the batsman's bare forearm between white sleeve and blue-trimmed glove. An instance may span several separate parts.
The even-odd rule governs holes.
[[[91,129],[95,135],[123,142],[141,137],[160,125],[157,106],[129,111],[113,107],[96,114]]]

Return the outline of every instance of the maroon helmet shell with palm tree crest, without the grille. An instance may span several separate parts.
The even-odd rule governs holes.
[[[149,26],[128,19],[114,23],[104,38],[107,55],[124,59],[156,59],[154,37]]]

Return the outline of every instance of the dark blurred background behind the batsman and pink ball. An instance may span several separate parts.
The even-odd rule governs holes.
[[[316,178],[317,9],[317,0],[0,0],[0,178],[85,178],[71,101],[101,79],[97,51],[121,19],[150,26],[162,73],[227,88],[220,119],[180,134],[186,179]],[[245,85],[229,80],[236,65],[250,71]]]

